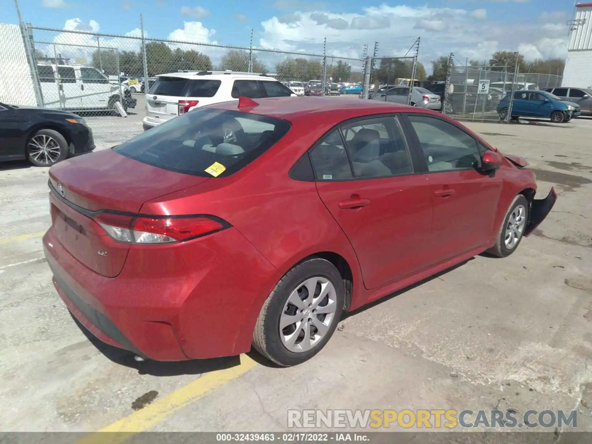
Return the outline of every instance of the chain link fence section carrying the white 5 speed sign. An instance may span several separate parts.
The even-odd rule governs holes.
[[[448,78],[440,88],[446,91],[443,112],[453,118],[497,121],[498,105],[507,92],[561,86],[561,76],[514,75],[513,70],[513,66],[450,66]]]

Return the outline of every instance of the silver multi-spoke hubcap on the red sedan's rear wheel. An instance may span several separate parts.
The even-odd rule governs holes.
[[[321,276],[309,278],[291,292],[279,318],[285,348],[302,353],[318,345],[329,332],[337,310],[333,284]]]

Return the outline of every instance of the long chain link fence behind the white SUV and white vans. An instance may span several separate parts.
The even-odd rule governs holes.
[[[297,95],[322,96],[340,95],[348,86],[362,89],[365,73],[365,59],[331,56],[326,50],[313,54],[161,40],[147,38],[141,30],[119,36],[31,24],[11,26],[14,28],[9,31],[0,28],[0,33],[10,32],[12,40],[21,45],[9,54],[0,52],[0,57],[14,59],[21,67],[18,79],[28,79],[22,89],[32,103],[25,103],[25,98],[14,99],[14,94],[7,101],[75,112],[85,118],[95,134],[107,137],[114,133],[131,137],[143,131],[145,94],[156,76],[166,73],[262,73],[278,79]],[[15,78],[10,82],[0,88],[21,88],[14,84]]]

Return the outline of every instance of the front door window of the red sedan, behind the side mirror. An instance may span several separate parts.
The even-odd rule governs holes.
[[[435,117],[408,116],[430,172],[480,168],[477,141],[461,128]]]

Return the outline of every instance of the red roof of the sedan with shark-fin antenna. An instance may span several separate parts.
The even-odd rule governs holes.
[[[413,111],[440,115],[440,113],[424,110],[423,108],[375,100],[347,100],[329,97],[268,97],[255,99],[255,101],[258,102],[258,106],[243,108],[240,111],[281,118],[291,123],[297,121],[317,123],[322,121],[328,127],[335,126],[350,118],[390,112]],[[209,105],[209,107],[232,111],[239,110],[237,101],[221,102]]]

